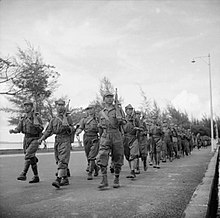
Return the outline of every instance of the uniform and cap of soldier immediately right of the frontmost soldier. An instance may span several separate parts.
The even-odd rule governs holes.
[[[125,112],[127,110],[133,110],[133,107],[129,104],[125,107]],[[134,111],[133,111],[134,112]],[[135,118],[135,114],[127,114],[125,117],[126,124],[123,125],[124,129],[124,155],[126,160],[129,163],[130,167],[130,175],[127,178],[135,178],[135,167],[137,165],[137,158],[139,156],[139,146],[138,146],[138,138],[137,138],[137,129],[138,120]]]

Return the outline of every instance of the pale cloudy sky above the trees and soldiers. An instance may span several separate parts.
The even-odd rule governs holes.
[[[55,97],[68,96],[71,107],[86,107],[107,77],[124,107],[138,109],[142,89],[160,107],[172,104],[198,119],[210,114],[210,54],[220,116],[218,0],[1,0],[0,56],[15,55],[26,41],[61,74]],[[0,103],[8,104],[4,96]],[[11,136],[0,113],[2,141]]]

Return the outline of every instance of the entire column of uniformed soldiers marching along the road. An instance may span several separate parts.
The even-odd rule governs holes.
[[[116,99],[117,100],[117,99]],[[42,141],[55,134],[54,153],[57,165],[56,179],[52,185],[56,188],[69,185],[71,143],[74,135],[79,136],[84,131],[83,144],[88,162],[87,179],[92,180],[101,171],[102,179],[99,189],[108,185],[107,167],[114,174],[113,187],[120,187],[119,176],[124,157],[128,161],[127,178],[134,180],[140,173],[140,168],[147,171],[148,165],[160,168],[160,162],[173,161],[180,156],[188,155],[193,148],[193,137],[189,130],[167,123],[158,123],[157,117],[146,119],[140,111],[135,111],[131,104],[125,107],[125,113],[114,94],[107,92],[103,97],[105,108],[98,116],[95,107],[89,105],[77,128],[73,126],[70,114],[66,111],[65,101],[55,102],[57,115],[53,117],[45,131],[40,115],[34,110],[33,102],[24,103],[25,116],[18,126],[10,133],[23,133],[23,148],[25,154],[24,169],[18,180],[25,181],[29,167],[32,167],[34,177],[29,183],[38,183],[38,158],[36,152]],[[141,167],[140,167],[141,166]]]

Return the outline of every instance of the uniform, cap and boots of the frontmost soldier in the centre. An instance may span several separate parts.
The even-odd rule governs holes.
[[[112,93],[106,93],[106,97],[113,97]],[[97,156],[97,163],[101,167],[102,181],[99,188],[108,186],[107,180],[107,166],[109,161],[109,154],[112,155],[112,162],[114,165],[114,188],[119,187],[119,174],[123,165],[124,147],[122,133],[120,132],[120,125],[123,120],[116,116],[116,106],[111,105],[110,108],[104,108],[99,113],[99,127],[101,129],[100,147]]]

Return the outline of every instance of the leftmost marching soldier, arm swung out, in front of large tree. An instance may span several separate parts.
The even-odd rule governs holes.
[[[29,183],[37,183],[40,181],[38,176],[36,157],[37,149],[40,145],[38,139],[43,131],[43,124],[40,115],[34,110],[33,102],[27,101],[24,103],[25,116],[21,118],[18,126],[15,129],[9,130],[11,133],[23,133],[23,149],[25,154],[25,162],[23,172],[18,176],[17,180],[25,181],[27,179],[26,174],[31,165],[34,177]]]

